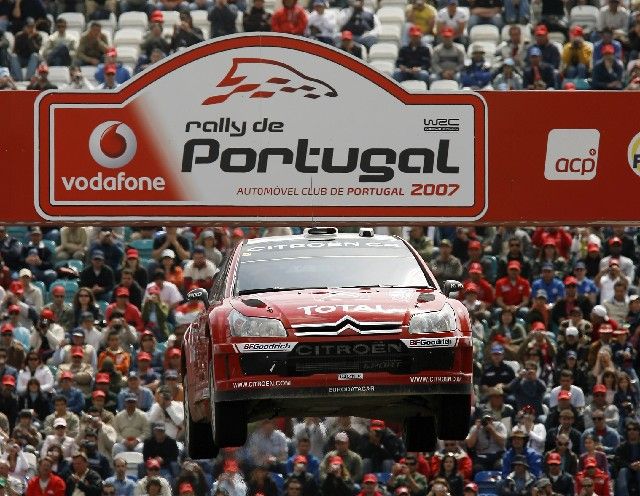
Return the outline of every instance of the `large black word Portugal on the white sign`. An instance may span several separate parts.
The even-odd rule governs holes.
[[[396,170],[403,174],[458,174],[460,167],[449,164],[449,144],[448,139],[439,140],[436,151],[430,148],[396,151],[382,147],[362,150],[351,147],[347,152],[346,164],[335,164],[334,148],[310,147],[308,139],[298,139],[295,148],[256,150],[238,147],[221,150],[218,140],[194,138],[184,144],[182,172],[192,172],[194,165],[212,165],[220,159],[219,167],[222,172],[266,173],[270,164],[293,165],[297,172],[303,174],[317,174],[320,169],[328,174],[351,174],[359,168],[362,172],[358,176],[359,182],[383,183],[391,181]],[[313,156],[318,157],[315,164],[311,158]]]

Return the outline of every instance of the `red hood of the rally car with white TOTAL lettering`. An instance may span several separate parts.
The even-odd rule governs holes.
[[[277,318],[285,327],[311,332],[314,326],[357,327],[359,323],[399,328],[408,323],[412,312],[437,311],[445,302],[446,297],[436,290],[349,288],[257,293],[233,298],[230,303],[246,316]]]

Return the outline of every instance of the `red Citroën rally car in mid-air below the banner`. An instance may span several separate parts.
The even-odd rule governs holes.
[[[192,458],[241,446],[247,423],[356,415],[404,422],[407,449],[469,429],[469,315],[406,241],[308,228],[244,241],[183,341]]]

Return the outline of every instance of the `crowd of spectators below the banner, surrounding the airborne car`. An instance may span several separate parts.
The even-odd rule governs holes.
[[[0,226],[0,496],[638,494],[640,230],[389,229],[463,283],[466,440],[412,453],[381,419],[277,418],[193,461],[185,295],[242,240],[299,230]]]

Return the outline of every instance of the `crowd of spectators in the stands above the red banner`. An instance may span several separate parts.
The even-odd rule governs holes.
[[[475,90],[637,90],[639,6],[638,0],[2,0],[0,89],[115,89],[205,39],[273,31],[370,61],[374,45],[395,44],[395,68],[376,67],[425,88],[450,81]],[[581,7],[595,10],[585,18],[574,10]],[[118,41],[114,29],[132,12],[144,16],[139,37]],[[80,28],[68,25],[67,13],[84,16]],[[121,45],[133,54],[123,55]],[[50,66],[65,73],[56,71],[52,82]]]

